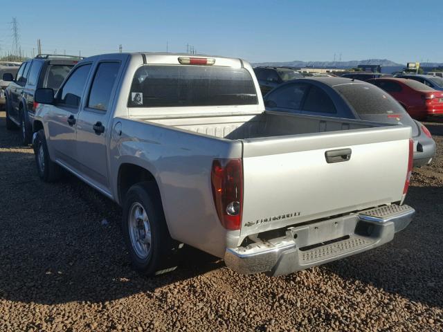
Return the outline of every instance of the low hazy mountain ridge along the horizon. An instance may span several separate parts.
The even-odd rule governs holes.
[[[359,64],[374,65],[379,64],[380,66],[406,66],[406,64],[397,64],[396,62],[390,61],[388,59],[367,59],[367,60],[354,60],[354,61],[289,61],[289,62],[260,62],[255,63],[253,66],[291,66],[300,68],[352,68],[359,66]],[[430,64],[431,66],[438,64]]]

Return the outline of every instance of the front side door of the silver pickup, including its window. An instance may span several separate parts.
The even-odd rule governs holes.
[[[48,140],[49,153],[57,161],[73,170],[78,170],[75,150],[75,128],[78,111],[82,104],[82,95],[85,90],[91,63],[74,68],[58,90],[55,105],[48,113]]]

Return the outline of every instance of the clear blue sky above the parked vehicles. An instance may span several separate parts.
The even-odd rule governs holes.
[[[443,62],[443,1],[2,1],[0,54],[17,17],[28,55],[186,52],[250,62],[386,58]],[[66,3],[66,4],[64,4]],[[105,6],[104,6],[105,3]]]

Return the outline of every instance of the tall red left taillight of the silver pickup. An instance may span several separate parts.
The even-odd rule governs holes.
[[[243,167],[241,159],[215,159],[211,172],[215,210],[227,230],[242,227]]]

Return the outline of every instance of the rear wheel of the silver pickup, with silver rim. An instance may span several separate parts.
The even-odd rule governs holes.
[[[142,182],[129,188],[123,205],[122,228],[132,266],[139,273],[153,276],[177,267],[172,259],[174,241],[155,183]]]

